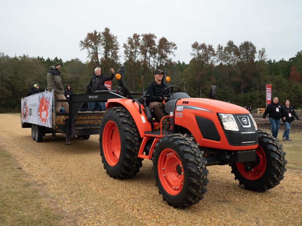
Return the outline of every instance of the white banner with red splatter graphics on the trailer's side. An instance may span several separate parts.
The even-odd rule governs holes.
[[[52,127],[53,93],[46,91],[21,99],[21,122]]]

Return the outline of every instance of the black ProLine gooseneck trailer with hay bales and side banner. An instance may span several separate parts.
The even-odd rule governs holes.
[[[21,126],[31,128],[31,138],[42,142],[43,136],[56,133],[66,135],[66,145],[70,137],[89,139],[100,133],[100,124],[105,111],[80,112],[85,102],[106,102],[112,98],[125,98],[115,91],[106,90],[87,94],[73,94],[69,100],[56,100],[54,91],[45,91],[21,99]],[[69,113],[55,112],[57,102],[68,102]]]

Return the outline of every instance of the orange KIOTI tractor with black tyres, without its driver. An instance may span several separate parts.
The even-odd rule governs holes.
[[[209,165],[229,164],[245,188],[264,191],[277,186],[286,171],[285,152],[277,139],[258,130],[248,110],[231,103],[191,98],[170,86],[162,130],[152,109],[133,98],[124,84],[124,67],[116,78],[120,99],[107,101],[100,128],[100,154],[106,172],[115,179],[135,176],[143,159],[153,161],[159,194],[173,207],[198,203],[207,191]],[[163,91],[165,93],[165,90]]]

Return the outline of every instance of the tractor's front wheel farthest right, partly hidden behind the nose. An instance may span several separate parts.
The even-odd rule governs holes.
[[[245,171],[243,163],[232,163],[232,173],[246,189],[265,191],[277,186],[286,172],[285,152],[278,140],[264,130],[258,130],[256,161],[251,162],[252,171]]]

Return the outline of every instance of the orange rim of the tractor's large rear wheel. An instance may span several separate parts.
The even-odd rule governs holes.
[[[104,127],[102,145],[107,163],[115,166],[120,159],[120,132],[114,121],[108,121]]]

